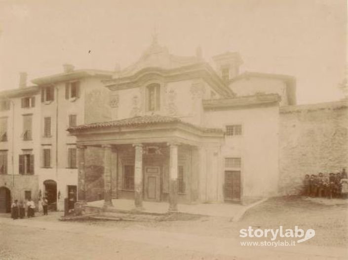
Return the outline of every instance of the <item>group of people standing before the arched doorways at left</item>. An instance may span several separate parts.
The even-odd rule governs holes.
[[[42,198],[42,209],[43,215],[48,215],[47,207],[48,202],[47,198]],[[25,206],[27,206],[27,217],[35,217],[35,203],[32,199],[29,199],[26,204],[22,201],[18,202],[18,200],[14,200],[11,206],[11,217],[13,219],[24,218],[25,217]]]

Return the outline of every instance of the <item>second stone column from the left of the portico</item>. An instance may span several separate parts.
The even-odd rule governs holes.
[[[111,200],[111,145],[102,146],[104,150],[104,207],[113,206]]]

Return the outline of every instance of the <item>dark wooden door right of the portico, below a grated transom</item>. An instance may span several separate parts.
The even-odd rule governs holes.
[[[225,171],[225,200],[240,201],[240,171]]]

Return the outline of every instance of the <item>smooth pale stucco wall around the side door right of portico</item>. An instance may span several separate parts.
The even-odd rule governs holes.
[[[277,193],[278,120],[278,106],[205,112],[207,127],[225,129],[227,125],[242,125],[242,135],[226,136],[221,156],[218,154],[222,169],[216,172],[220,174],[217,178],[220,181],[216,181],[218,194],[224,183],[225,157],[241,158],[242,197],[267,197]]]

